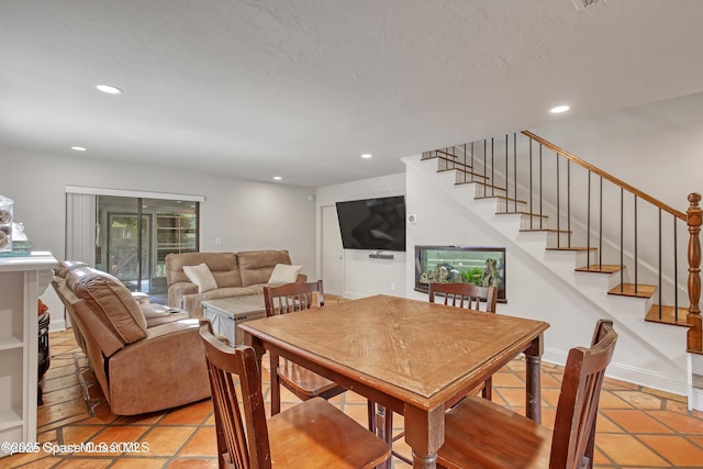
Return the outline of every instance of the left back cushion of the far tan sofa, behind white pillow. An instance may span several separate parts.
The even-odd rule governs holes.
[[[188,282],[183,266],[207,264],[217,288],[242,287],[237,257],[234,253],[183,253],[166,256],[166,278],[169,286]],[[290,264],[290,263],[289,263]]]

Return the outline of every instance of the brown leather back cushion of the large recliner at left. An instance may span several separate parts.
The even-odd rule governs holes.
[[[77,270],[79,269],[70,271],[69,278],[74,277]],[[112,276],[100,272],[80,275],[74,278],[71,289],[78,298],[86,300],[104,324],[112,326],[125,344],[146,337],[144,313],[130,290]]]

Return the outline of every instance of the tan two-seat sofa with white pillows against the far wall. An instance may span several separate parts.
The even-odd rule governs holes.
[[[214,288],[201,288],[187,273],[189,268],[207,266]],[[284,269],[282,269],[286,267]],[[201,302],[220,298],[263,294],[270,283],[304,282],[301,266],[292,266],[288,250],[246,250],[241,253],[185,253],[166,256],[168,305],[202,317]],[[272,277],[283,271],[283,277]],[[207,275],[207,272],[205,272]]]

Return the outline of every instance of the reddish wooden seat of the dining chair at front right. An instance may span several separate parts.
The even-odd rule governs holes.
[[[548,468],[551,431],[487,399],[467,397],[445,414],[437,462],[450,469]]]

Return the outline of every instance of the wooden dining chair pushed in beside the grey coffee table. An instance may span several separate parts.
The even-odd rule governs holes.
[[[314,306],[324,306],[322,280],[264,287],[264,302],[267,317],[309,310]],[[316,397],[330,399],[346,391],[345,388],[337,386],[334,381],[330,381],[290,360],[282,359],[279,364],[279,357],[274,353],[270,354],[270,372],[276,373],[274,376],[274,386],[271,386],[272,415],[276,415],[281,410],[280,386],[283,386],[302,401]]]

